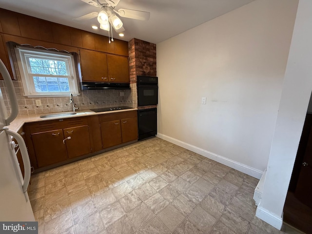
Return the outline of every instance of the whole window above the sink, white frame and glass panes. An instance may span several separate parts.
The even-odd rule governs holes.
[[[27,47],[16,47],[15,51],[25,96],[78,95],[72,55]]]

